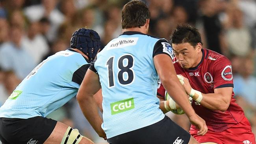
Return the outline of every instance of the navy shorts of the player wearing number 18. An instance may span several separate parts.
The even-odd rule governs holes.
[[[108,138],[109,144],[188,144],[190,134],[169,117],[147,127]]]

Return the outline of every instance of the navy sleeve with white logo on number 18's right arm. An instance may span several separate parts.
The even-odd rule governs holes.
[[[166,39],[160,39],[154,45],[153,58],[158,54],[167,54],[171,59],[174,58],[173,48]]]

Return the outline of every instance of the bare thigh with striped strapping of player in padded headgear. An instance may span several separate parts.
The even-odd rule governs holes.
[[[77,129],[57,122],[44,144],[94,144],[89,138],[80,135]]]

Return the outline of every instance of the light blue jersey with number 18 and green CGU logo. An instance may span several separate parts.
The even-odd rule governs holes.
[[[107,138],[164,118],[156,97],[156,54],[173,57],[171,45],[165,39],[127,31],[110,41],[91,63],[90,69],[98,73],[102,87],[102,129]]]

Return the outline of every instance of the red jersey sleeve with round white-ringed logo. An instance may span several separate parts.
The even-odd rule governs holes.
[[[214,89],[234,87],[231,62],[226,57],[221,57],[213,66]]]

